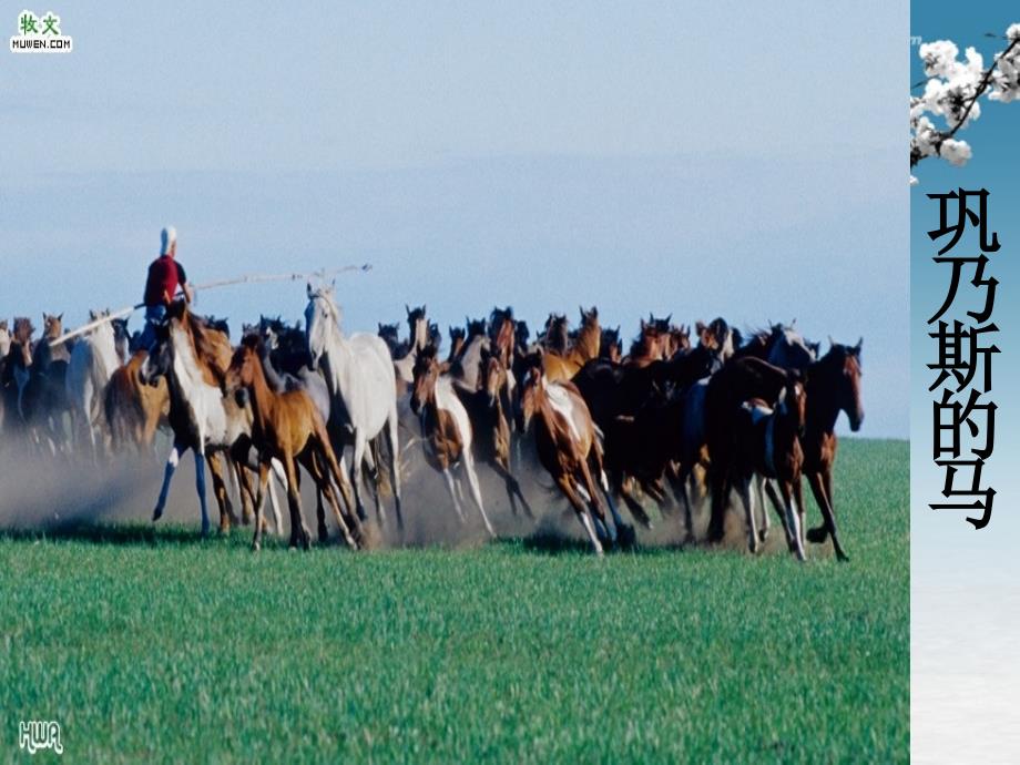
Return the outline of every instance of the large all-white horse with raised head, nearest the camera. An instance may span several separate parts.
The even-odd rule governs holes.
[[[361,501],[361,463],[368,442],[380,434],[388,441],[389,470],[392,477],[397,524],[404,528],[400,510],[400,449],[397,432],[397,378],[394,359],[381,337],[357,333],[344,337],[341,313],[334,299],[333,287],[315,289],[307,285],[308,306],[305,308],[305,332],[312,366],[320,368],[333,398],[330,437],[337,455],[344,447],[354,447],[350,482],[354,484],[358,517],[365,519]],[[376,466],[381,470],[382,466]],[[382,503],[378,499],[379,520],[385,522]]]

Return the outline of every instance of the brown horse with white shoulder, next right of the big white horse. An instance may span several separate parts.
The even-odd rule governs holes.
[[[468,411],[453,389],[456,385],[452,377],[440,371],[436,348],[428,346],[415,361],[415,387],[411,391],[411,411],[419,416],[421,422],[421,438],[425,441],[425,456],[428,462],[446,479],[453,509],[461,521],[465,521],[463,509],[460,507],[457,486],[451,467],[461,467],[466,473],[471,499],[478,507],[478,512],[486,524],[486,531],[491,537],[496,536],[478,487],[478,476],[475,473],[475,458],[471,453],[473,432]]]

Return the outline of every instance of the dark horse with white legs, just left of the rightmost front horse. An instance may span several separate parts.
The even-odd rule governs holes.
[[[730,462],[727,486],[736,488],[747,518],[747,547],[757,551],[758,532],[754,517],[754,496],[751,482],[755,475],[779,486],[782,509],[776,512],[786,530],[790,552],[804,560],[804,492],[800,481],[804,452],[800,435],[804,429],[807,396],[798,373],[787,373],[787,384],[779,390],[775,408],[768,401],[753,398],[741,405],[734,418],[735,449]],[[771,487],[771,484],[768,484]],[[772,491],[769,496],[775,501]],[[763,512],[767,511],[762,508]],[[784,516],[785,512],[785,516]],[[767,514],[765,530],[767,530]],[[764,539],[764,533],[762,534]]]

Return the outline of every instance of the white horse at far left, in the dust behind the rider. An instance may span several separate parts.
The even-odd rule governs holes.
[[[89,320],[94,322],[109,315],[109,310],[90,310]],[[96,431],[102,432],[103,394],[119,366],[113,325],[110,322],[99,324],[75,343],[68,363],[68,399],[75,416],[89,431],[93,457],[96,453]]]

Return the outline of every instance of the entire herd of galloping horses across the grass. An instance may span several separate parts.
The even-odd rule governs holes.
[[[43,315],[39,340],[28,318],[12,329],[0,322],[3,440],[102,461],[151,450],[166,431],[153,520],[191,450],[203,534],[207,466],[221,529],[238,522],[234,488],[242,521],[254,521],[255,549],[268,527],[266,499],[276,532],[284,528],[274,486],[286,492],[290,545],[309,547],[299,468],[316,489],[320,541],[328,504],[344,542],[366,544],[366,492],[381,527],[391,498],[402,532],[401,465],[415,451],[441,476],[457,517],[467,522],[470,504],[492,536],[476,466],[494,471],[514,514],[534,518],[520,477],[537,461],[596,554],[635,541],[618,502],[645,528],[655,503],[693,542],[692,504],[707,496],[707,541],[718,542],[735,496],[752,552],[768,532],[767,500],[799,560],[808,541],[827,539],[847,559],[834,508],[835,425],[840,411],[854,431],[864,419],[859,340],[830,340],[823,355],[793,326],[742,335],[722,318],[692,330],[650,316],[625,347],[594,307],[581,308],[577,330],[550,315],[532,339],[507,307],[451,327],[443,354],[427,308],[406,313],[405,340],[399,323],[346,336],[334,288],[309,284],[304,327],[263,317],[244,326],[237,346],[225,322],[183,302],[171,305],[150,348],[136,347],[126,319],[99,322],[74,343],[59,339],[59,315]],[[810,530],[804,478],[823,518]]]

